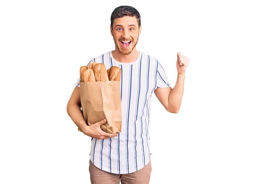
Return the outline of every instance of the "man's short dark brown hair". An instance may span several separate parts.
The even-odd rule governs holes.
[[[119,6],[119,7],[115,8],[114,11],[112,12],[111,18],[110,18],[111,27],[113,28],[113,23],[116,18],[121,18],[124,16],[131,16],[131,17],[135,16],[137,18],[137,22],[140,27],[140,24],[141,24],[140,23],[140,13],[139,13],[139,11],[137,11],[137,9],[135,9],[132,6]]]

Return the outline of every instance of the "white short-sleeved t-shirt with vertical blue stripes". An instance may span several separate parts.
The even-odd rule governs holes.
[[[158,60],[143,52],[131,63],[116,61],[111,51],[90,62],[93,61],[104,63],[106,69],[111,66],[122,69],[122,132],[109,139],[92,138],[90,160],[99,169],[110,173],[133,173],[145,167],[151,159],[148,133],[151,95],[156,88],[166,88],[170,84]],[[76,86],[79,82],[80,78]]]

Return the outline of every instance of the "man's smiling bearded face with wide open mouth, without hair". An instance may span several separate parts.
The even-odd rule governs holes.
[[[138,42],[140,31],[141,25],[139,28],[135,16],[125,16],[114,20],[111,35],[121,54],[131,54],[131,51],[133,51]]]

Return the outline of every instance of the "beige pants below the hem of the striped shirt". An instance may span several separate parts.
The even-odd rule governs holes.
[[[91,161],[89,164],[91,184],[120,184],[120,179],[121,184],[149,184],[151,170],[151,161],[141,170],[129,174],[108,173],[93,165]]]

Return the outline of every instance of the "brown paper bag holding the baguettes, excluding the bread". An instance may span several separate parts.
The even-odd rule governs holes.
[[[120,133],[122,126],[120,81],[79,82],[81,107],[87,125],[106,119],[101,129]],[[79,131],[80,128],[78,129]]]

